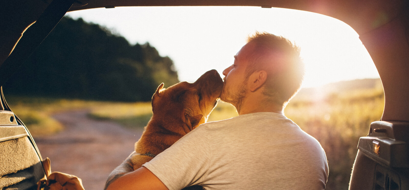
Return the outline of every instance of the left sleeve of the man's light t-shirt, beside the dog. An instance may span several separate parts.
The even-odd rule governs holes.
[[[210,157],[205,126],[199,126],[142,166],[169,190],[180,190],[203,182]]]

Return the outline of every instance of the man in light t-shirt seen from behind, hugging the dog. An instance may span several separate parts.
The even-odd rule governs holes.
[[[324,150],[283,115],[303,74],[299,48],[290,41],[269,33],[249,37],[223,71],[220,99],[239,116],[202,124],[133,172],[125,161],[110,175],[108,190],[324,189]]]

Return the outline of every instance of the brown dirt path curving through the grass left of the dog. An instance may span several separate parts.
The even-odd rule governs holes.
[[[80,177],[85,190],[103,190],[109,173],[133,151],[142,129],[127,130],[110,121],[87,117],[88,111],[54,116],[65,130],[50,137],[34,137],[51,170]]]

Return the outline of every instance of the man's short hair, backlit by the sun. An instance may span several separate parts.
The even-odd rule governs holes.
[[[246,79],[256,71],[266,71],[264,95],[285,106],[299,91],[304,78],[300,48],[282,36],[266,32],[256,32],[247,42],[256,45],[247,58]]]

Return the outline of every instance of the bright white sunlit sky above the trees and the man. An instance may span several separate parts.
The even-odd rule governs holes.
[[[379,78],[358,34],[344,22],[317,13],[261,7],[116,7],[67,15],[107,27],[130,44],[149,42],[173,60],[180,81],[194,82],[211,69],[221,75],[255,31],[283,35],[301,47],[304,88]]]

